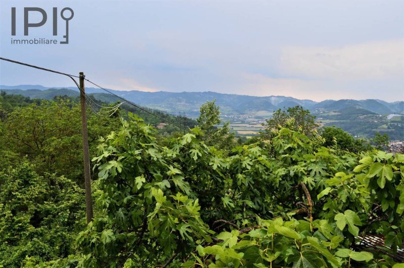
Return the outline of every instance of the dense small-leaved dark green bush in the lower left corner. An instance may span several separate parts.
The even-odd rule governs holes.
[[[74,253],[84,224],[84,191],[55,175],[38,176],[29,164],[0,172],[0,266],[25,257],[46,261]]]

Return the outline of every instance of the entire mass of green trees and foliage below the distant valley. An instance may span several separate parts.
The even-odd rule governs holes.
[[[370,147],[342,129],[319,132],[301,107],[244,144],[216,127],[215,102],[171,134],[138,111],[88,109],[86,224],[78,102],[1,100],[4,267],[403,265],[404,155],[378,150],[383,137]]]

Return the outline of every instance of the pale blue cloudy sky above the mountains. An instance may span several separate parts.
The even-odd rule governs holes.
[[[11,35],[11,8],[16,35]],[[24,8],[47,14],[24,36]],[[69,44],[12,44],[11,39]],[[66,11],[65,17],[70,13]],[[37,23],[39,12],[29,13]],[[106,88],[298,99],[404,100],[404,1],[5,1],[0,55]],[[0,84],[74,86],[0,60]]]

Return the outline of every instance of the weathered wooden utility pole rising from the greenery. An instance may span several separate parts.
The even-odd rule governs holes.
[[[81,131],[83,133],[83,162],[84,162],[84,184],[85,184],[85,206],[87,223],[92,221],[92,198],[91,198],[91,179],[90,179],[90,154],[88,152],[88,131],[87,116],[84,96],[84,74],[80,77],[80,104],[81,104]]]

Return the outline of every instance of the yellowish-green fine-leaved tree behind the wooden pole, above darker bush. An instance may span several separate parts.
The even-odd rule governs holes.
[[[64,99],[33,103],[16,108],[0,125],[0,152],[3,155],[18,154],[21,159],[27,157],[41,175],[56,172],[83,183],[83,145],[78,104]],[[119,118],[98,117],[89,113],[91,155],[95,153],[98,137],[105,136],[118,125]],[[6,167],[4,164],[0,166]]]

